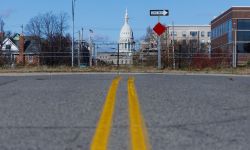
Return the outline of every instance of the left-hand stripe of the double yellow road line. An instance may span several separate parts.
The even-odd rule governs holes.
[[[90,145],[90,150],[107,150],[116,101],[116,91],[121,77],[116,77],[109,88],[103,110]]]

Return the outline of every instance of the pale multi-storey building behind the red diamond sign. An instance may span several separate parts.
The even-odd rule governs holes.
[[[210,51],[210,25],[169,25],[167,27],[167,31],[161,37],[162,51],[169,49],[169,52],[171,52],[173,44],[177,46],[175,47],[176,53]],[[141,42],[140,52],[141,55],[143,55],[143,60],[147,59],[145,56],[157,56],[156,39],[156,35],[153,34],[151,39],[148,39],[149,41]],[[183,50],[180,50],[180,47],[182,47]]]

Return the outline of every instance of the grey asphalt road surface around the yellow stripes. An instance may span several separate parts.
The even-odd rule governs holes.
[[[122,74],[110,150],[130,145],[129,76],[152,150],[247,150],[250,77]],[[116,74],[0,76],[0,150],[88,150]]]

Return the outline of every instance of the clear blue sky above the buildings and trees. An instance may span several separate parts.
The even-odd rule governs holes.
[[[148,26],[157,23],[157,17],[150,17],[150,9],[169,9],[170,16],[161,22],[171,24],[209,24],[214,16],[231,6],[250,6],[249,0],[76,0],[76,30],[92,29],[96,37],[117,41],[128,9],[130,25],[136,39],[140,39]],[[21,25],[39,13],[53,11],[67,12],[71,17],[71,0],[0,0],[0,16],[5,30],[20,32]],[[71,26],[71,19],[69,20]],[[68,31],[71,33],[71,27]]]

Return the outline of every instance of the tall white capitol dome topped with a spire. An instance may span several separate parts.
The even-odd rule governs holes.
[[[125,13],[125,22],[120,32],[119,48],[120,52],[131,53],[134,50],[133,30],[128,24],[128,11]]]

